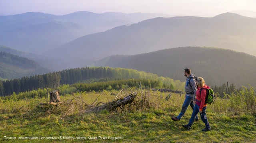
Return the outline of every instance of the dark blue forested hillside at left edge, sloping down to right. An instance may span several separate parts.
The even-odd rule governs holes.
[[[48,72],[51,70],[41,67],[35,61],[0,51],[0,77],[2,78],[19,78]]]

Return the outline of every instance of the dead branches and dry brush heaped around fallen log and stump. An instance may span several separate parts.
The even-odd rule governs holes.
[[[140,84],[138,84],[140,85]],[[128,85],[127,85],[128,86]],[[129,87],[130,88],[130,87]],[[152,101],[152,97],[154,99],[156,98],[153,94],[150,92],[146,92],[145,90],[138,90],[137,92],[133,92],[132,89],[131,94],[125,94],[119,95],[122,93],[123,90],[121,90],[116,97],[110,101],[108,100],[108,96],[105,94],[106,99],[108,102],[100,102],[98,101],[98,97],[101,96],[98,95],[98,97],[94,100],[92,104],[88,104],[83,99],[84,96],[77,90],[77,92],[80,93],[80,96],[77,96],[75,98],[69,99],[69,100],[62,100],[61,102],[47,102],[47,103],[41,103],[39,104],[38,109],[43,109],[44,112],[47,112],[49,114],[62,114],[61,118],[64,118],[65,116],[74,115],[74,114],[81,114],[84,112],[99,112],[102,110],[107,110],[108,112],[124,112],[124,111],[136,111],[136,110],[147,110],[149,108],[158,108],[159,104],[157,104],[159,101]],[[58,95],[58,91],[50,92],[50,93],[56,93]],[[71,93],[73,94],[73,93]],[[126,95],[126,96],[125,96]],[[73,94],[73,96],[75,96]],[[125,96],[125,97],[124,97]],[[50,98],[51,99],[51,98]],[[60,98],[53,98],[54,101],[60,101]],[[158,100],[158,98],[157,98]],[[150,102],[151,101],[151,102]],[[42,112],[42,110],[40,110]]]

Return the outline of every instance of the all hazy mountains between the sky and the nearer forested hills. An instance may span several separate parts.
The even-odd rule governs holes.
[[[26,51],[24,57],[54,71],[86,67],[110,55],[171,47],[222,47],[256,55],[256,18],[233,13],[213,18],[173,16],[111,12],[0,16],[0,45]]]

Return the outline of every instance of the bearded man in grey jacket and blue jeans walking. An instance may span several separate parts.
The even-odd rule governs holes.
[[[182,110],[180,114],[177,117],[172,117],[172,120],[174,121],[178,121],[184,116],[186,110],[188,109],[188,105],[190,105],[191,108],[194,110],[196,104],[196,77],[193,74],[191,74],[190,69],[184,69],[184,76],[187,77],[185,83],[186,98],[182,105]],[[196,115],[195,120],[198,121],[198,115]]]

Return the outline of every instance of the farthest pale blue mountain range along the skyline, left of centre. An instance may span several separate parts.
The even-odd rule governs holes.
[[[168,15],[168,14],[155,14],[155,13],[131,13],[125,14],[121,12],[105,12],[96,14],[93,12],[74,12],[63,16],[56,16],[52,14],[44,14],[39,12],[27,12],[24,14],[17,14],[12,16],[0,16],[0,25],[12,24],[12,26],[20,27],[41,24],[46,22],[66,22],[76,23],[84,27],[90,27],[96,31],[105,31],[116,26],[137,23],[143,20],[156,18],[156,17],[174,17],[185,15]],[[5,23],[3,23],[5,22]]]

